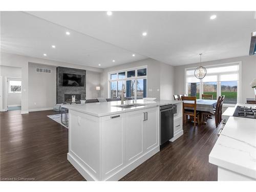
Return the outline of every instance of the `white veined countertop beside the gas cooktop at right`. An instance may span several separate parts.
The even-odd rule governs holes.
[[[230,116],[210,152],[209,162],[256,179],[256,119]]]

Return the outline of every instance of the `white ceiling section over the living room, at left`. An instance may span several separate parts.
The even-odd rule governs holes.
[[[1,12],[1,51],[97,68],[147,58],[24,12]]]

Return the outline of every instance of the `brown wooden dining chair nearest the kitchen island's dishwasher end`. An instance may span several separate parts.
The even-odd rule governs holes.
[[[194,103],[183,102],[183,124],[185,124],[185,119],[187,116],[194,117],[194,127],[196,127],[196,122],[200,125],[200,113],[197,112],[197,97],[185,97],[181,96],[182,101],[194,101]],[[193,110],[187,110],[185,108],[194,108]]]

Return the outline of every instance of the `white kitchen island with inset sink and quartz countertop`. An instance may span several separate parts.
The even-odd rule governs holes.
[[[177,105],[174,141],[183,134],[182,101],[160,100],[133,108],[121,101],[67,105],[69,109],[68,160],[88,181],[117,181],[155,155],[159,146],[159,106]]]

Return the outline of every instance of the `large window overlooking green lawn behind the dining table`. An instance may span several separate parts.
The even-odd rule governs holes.
[[[213,99],[225,95],[225,104],[237,104],[239,101],[240,63],[206,67],[203,79],[194,76],[195,69],[186,69],[186,93],[202,99],[202,94],[213,95]]]

